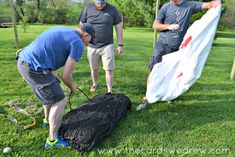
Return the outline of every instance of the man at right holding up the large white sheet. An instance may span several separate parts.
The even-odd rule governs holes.
[[[156,63],[162,61],[162,56],[179,50],[193,14],[203,9],[217,7],[219,4],[220,0],[204,3],[187,0],[170,0],[170,2],[164,4],[153,23],[153,29],[161,31],[161,34],[154,46],[154,52],[149,64],[150,71],[152,71]],[[139,107],[148,104],[145,97],[144,99],[145,101]]]

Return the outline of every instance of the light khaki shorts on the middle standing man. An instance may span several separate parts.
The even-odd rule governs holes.
[[[87,58],[92,70],[99,69],[100,58],[102,58],[103,69],[115,69],[114,45],[110,44],[101,48],[87,48]]]

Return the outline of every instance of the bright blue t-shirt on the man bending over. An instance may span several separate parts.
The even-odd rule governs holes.
[[[25,47],[19,58],[33,70],[57,70],[65,65],[69,56],[78,61],[83,49],[83,42],[75,29],[55,26]]]

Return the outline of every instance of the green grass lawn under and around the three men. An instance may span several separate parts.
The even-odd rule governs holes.
[[[21,47],[48,27],[30,26],[27,33],[19,28]],[[132,111],[111,136],[92,151],[81,154],[71,148],[44,150],[48,129],[41,127],[42,107],[17,71],[12,29],[0,29],[0,156],[235,156],[235,82],[229,80],[235,56],[235,31],[218,32],[203,74],[190,90],[173,104],[158,102],[137,112],[135,108],[145,94],[152,37],[150,30],[124,30],[124,53],[116,56],[113,90],[130,97]],[[92,81],[86,52],[78,63],[74,80],[89,97],[106,92],[101,68],[101,88],[96,94],[88,93]],[[64,85],[63,88],[68,91]],[[36,118],[35,127],[23,129],[32,120],[8,106],[7,102],[14,99],[21,101],[19,106]],[[72,107],[85,100],[78,93],[72,98]],[[8,114],[20,124],[8,120],[4,116]],[[8,155],[2,153],[7,146],[13,150]]]

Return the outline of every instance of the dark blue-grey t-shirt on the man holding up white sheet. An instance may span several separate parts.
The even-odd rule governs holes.
[[[191,16],[201,10],[202,2],[183,0],[179,5],[172,2],[164,4],[159,10],[156,20],[163,24],[179,24],[180,28],[175,31],[161,31],[159,41],[171,48],[178,49],[189,28]]]

